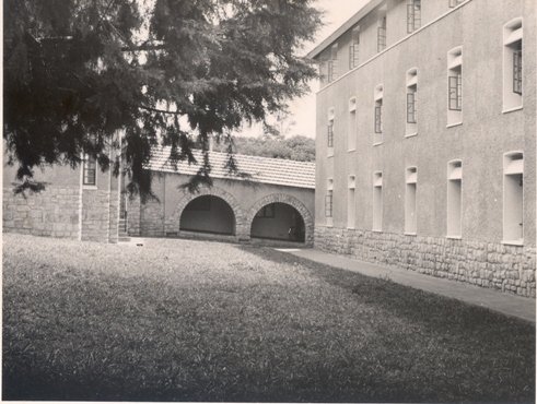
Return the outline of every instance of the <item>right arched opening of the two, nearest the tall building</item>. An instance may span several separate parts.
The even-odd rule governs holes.
[[[250,237],[304,242],[304,218],[287,203],[269,203],[256,213],[252,222]]]

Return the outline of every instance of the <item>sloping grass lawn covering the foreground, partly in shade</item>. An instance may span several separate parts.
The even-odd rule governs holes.
[[[533,402],[535,326],[271,249],[8,234],[3,399]]]

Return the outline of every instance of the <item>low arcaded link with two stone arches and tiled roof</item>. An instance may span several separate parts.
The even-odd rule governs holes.
[[[246,179],[229,176],[226,154],[211,152],[211,188],[198,193],[182,188],[198,166],[166,162],[155,151],[148,169],[154,174],[157,201],[127,202],[130,236],[203,237],[231,241],[293,241],[313,245],[315,164],[235,155]],[[195,156],[201,161],[201,155]]]

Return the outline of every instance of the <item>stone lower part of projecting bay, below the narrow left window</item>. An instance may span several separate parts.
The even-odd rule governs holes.
[[[108,241],[109,191],[82,191],[82,240]]]

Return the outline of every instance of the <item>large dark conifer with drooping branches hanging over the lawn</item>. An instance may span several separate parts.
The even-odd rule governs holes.
[[[36,168],[74,168],[83,153],[119,174],[105,151],[122,132],[128,190],[144,198],[152,147],[194,163],[196,136],[203,151],[210,134],[230,143],[242,122],[284,111],[316,74],[296,56],[320,24],[311,0],[147,3],[4,1],[3,133],[22,189],[38,188]],[[189,188],[211,183],[210,171],[205,153]]]

